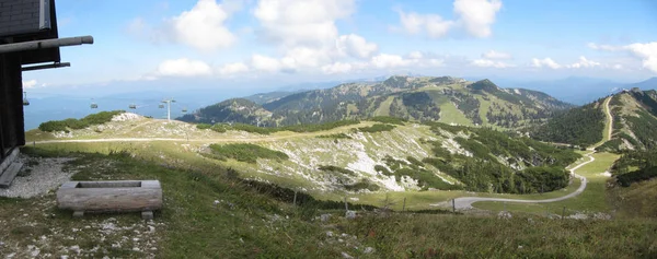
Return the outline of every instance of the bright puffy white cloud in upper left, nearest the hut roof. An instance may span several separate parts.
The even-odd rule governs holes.
[[[198,0],[192,10],[171,20],[174,38],[203,51],[232,46],[237,37],[223,24],[232,11],[235,11],[234,5],[218,4],[215,0]],[[132,26],[140,25],[137,23]]]

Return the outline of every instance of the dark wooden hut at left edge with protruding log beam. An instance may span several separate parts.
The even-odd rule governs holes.
[[[15,163],[25,144],[23,71],[69,67],[59,47],[93,44],[93,37],[59,38],[55,0],[0,1],[0,188],[22,167]],[[26,101],[26,99],[25,99]]]

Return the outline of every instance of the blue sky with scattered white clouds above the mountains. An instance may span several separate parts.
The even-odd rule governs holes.
[[[657,75],[652,0],[59,0],[57,11],[60,37],[95,43],[61,49],[71,68],[25,72],[31,91]]]

